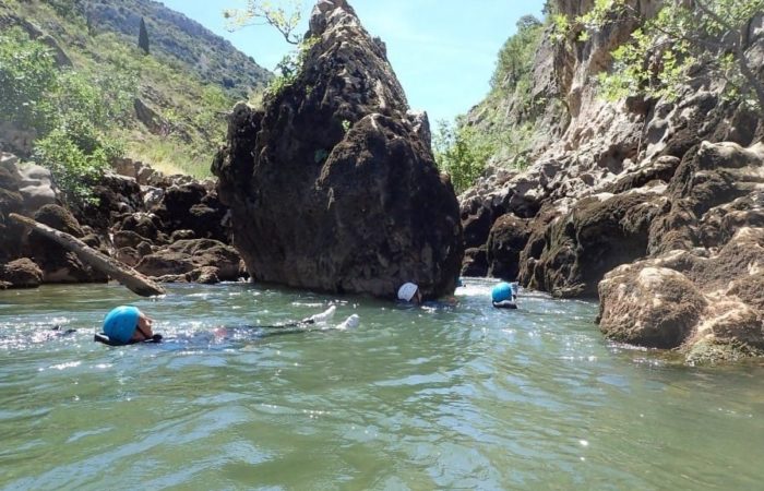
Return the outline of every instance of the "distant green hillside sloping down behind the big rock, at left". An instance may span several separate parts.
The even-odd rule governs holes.
[[[138,48],[141,19],[147,26],[148,55]],[[21,37],[19,29],[25,33]],[[40,70],[13,61],[14,51],[32,56],[40,43],[56,59],[56,73],[46,69],[47,85],[33,87],[19,81]],[[225,115],[237,100],[259,97],[272,79],[228,41],[152,0],[0,1],[0,58],[3,52],[10,64],[3,68],[0,59],[0,75],[14,81],[4,97],[11,94],[17,104],[0,101],[0,107],[8,106],[3,116],[11,124],[9,131],[0,123],[0,148],[32,156],[43,139],[74,139],[72,128],[88,122],[88,131],[114,143],[117,155],[196,177],[210,176],[226,132]],[[79,88],[68,91],[68,85]],[[87,97],[69,100],[83,94]],[[32,115],[28,108],[40,100],[60,107]],[[85,106],[102,109],[86,112]],[[93,111],[111,116],[96,122]],[[19,130],[32,135],[15,137],[16,143],[27,142],[21,146],[11,142]],[[45,144],[49,153],[56,147]]]

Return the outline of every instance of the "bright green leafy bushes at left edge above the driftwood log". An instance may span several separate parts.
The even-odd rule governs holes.
[[[39,136],[35,158],[70,201],[86,200],[92,179],[120,154],[107,131],[128,110],[134,82],[59,71],[50,52],[17,29],[0,37],[0,108]]]

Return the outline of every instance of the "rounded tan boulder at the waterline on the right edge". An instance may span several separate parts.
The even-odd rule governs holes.
[[[713,254],[677,250],[623,265],[599,295],[600,330],[612,339],[675,348],[693,363],[761,355],[764,229],[741,228]]]

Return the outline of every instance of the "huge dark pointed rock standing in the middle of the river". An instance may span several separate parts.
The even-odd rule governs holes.
[[[345,1],[320,1],[309,36],[298,80],[263,111],[237,106],[213,164],[248,271],[324,291],[453,291],[458,205],[427,120],[408,112],[384,46]]]

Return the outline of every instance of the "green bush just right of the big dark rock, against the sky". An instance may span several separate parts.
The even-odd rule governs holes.
[[[438,121],[433,147],[438,168],[451,176],[457,194],[475,183],[498,149],[497,142],[476,128],[454,128],[442,120]]]

